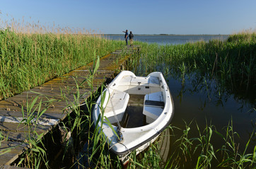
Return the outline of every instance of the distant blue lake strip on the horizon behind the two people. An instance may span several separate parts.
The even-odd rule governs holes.
[[[107,39],[123,40],[124,35],[105,35]],[[212,39],[226,40],[228,35],[134,35],[134,41],[147,42],[149,44],[185,44],[187,42],[204,41]]]

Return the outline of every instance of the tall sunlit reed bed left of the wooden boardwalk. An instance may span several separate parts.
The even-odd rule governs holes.
[[[0,31],[0,100],[59,77],[122,47],[122,42],[83,34]]]

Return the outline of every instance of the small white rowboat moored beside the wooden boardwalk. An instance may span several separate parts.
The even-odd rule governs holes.
[[[136,115],[127,115],[130,96],[143,98],[143,108],[135,113],[144,117],[141,119],[144,120],[144,125],[139,127],[124,125],[127,124],[127,119],[137,120]],[[154,72],[147,77],[137,77],[124,70],[98,98],[93,109],[93,121],[95,127],[101,127],[100,130],[105,134],[110,151],[120,156],[125,163],[131,151],[136,150],[139,154],[156,140],[170,124],[173,110],[173,99],[162,73]]]

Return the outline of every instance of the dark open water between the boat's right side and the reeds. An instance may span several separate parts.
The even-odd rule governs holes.
[[[175,115],[172,124],[182,126],[185,120],[189,123],[196,120],[202,127],[206,120],[221,130],[233,120],[233,130],[240,134],[241,142],[247,142],[256,124],[255,103],[239,99],[228,92],[220,93],[214,80],[197,81],[190,77],[182,85],[180,80],[167,77],[170,92],[175,104]]]

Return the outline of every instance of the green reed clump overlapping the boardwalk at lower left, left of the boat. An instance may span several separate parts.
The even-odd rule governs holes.
[[[42,163],[48,167],[47,152],[45,150],[45,144],[42,142],[44,133],[37,133],[37,127],[41,116],[47,111],[47,106],[43,106],[42,99],[39,99],[39,95],[35,98],[26,100],[26,108],[22,106],[23,120],[19,123],[25,127],[25,152],[21,155],[20,161],[17,165],[23,165],[27,168],[40,168]],[[47,102],[50,103],[51,101]],[[21,127],[22,128],[22,127]]]

